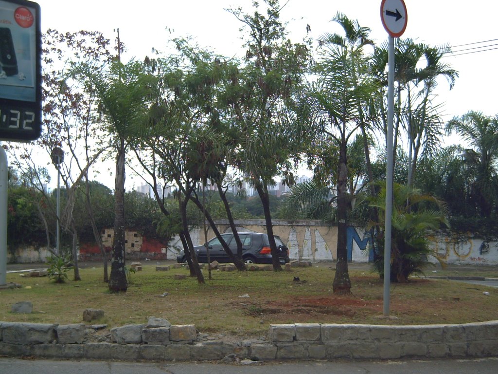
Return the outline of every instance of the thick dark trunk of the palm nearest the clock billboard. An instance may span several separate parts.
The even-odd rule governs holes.
[[[120,139],[118,156],[116,159],[115,177],[115,213],[113,253],[111,259],[111,277],[109,279],[109,290],[111,292],[126,292],[128,284],[124,270],[124,139]]]

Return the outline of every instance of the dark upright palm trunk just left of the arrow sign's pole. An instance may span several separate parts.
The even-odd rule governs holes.
[[[339,150],[339,174],[337,183],[337,265],[332,288],[334,293],[345,295],[351,293],[351,280],[348,272],[348,160],[346,157],[347,144],[344,136],[341,139]]]

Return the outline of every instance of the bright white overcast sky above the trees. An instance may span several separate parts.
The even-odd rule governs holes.
[[[113,40],[116,37],[113,30],[119,28],[121,40],[128,49],[124,59],[136,57],[138,60],[150,55],[152,47],[164,49],[171,35],[192,35],[201,46],[219,54],[241,56],[244,53],[239,32],[241,23],[224,8],[240,5],[246,11],[252,10],[250,0],[36,2],[41,7],[42,32],[48,28],[61,32],[98,30]],[[285,0],[280,2],[283,4]],[[315,38],[324,32],[339,32],[340,28],[330,20],[340,11],[352,19],[358,19],[361,26],[370,27],[372,38],[382,43],[387,39],[387,33],[380,20],[380,3],[381,0],[290,0],[281,12],[281,19],[289,21],[292,41],[298,42],[306,34],[306,24],[311,26],[311,36]],[[498,4],[495,1],[405,0],[405,4],[408,22],[403,38],[413,38],[433,46],[456,46],[498,39]],[[167,27],[174,33],[169,34]],[[498,44],[498,40],[454,50],[498,47],[492,44]],[[465,52],[475,50],[479,49]],[[498,49],[495,49],[444,59],[460,74],[452,91],[449,91],[446,81],[442,81],[437,90],[441,101],[446,103],[445,121],[469,110],[482,111],[490,116],[498,113],[494,92],[498,87],[497,57]],[[128,177],[131,176],[128,174]],[[139,180],[133,182],[128,177],[127,185],[140,184]]]

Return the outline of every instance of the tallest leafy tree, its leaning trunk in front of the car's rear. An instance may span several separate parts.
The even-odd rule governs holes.
[[[257,191],[261,200],[266,231],[273,258],[273,269],[281,270],[273,238],[268,187],[280,176],[292,185],[290,159],[297,159],[307,134],[303,123],[291,111],[293,96],[310,60],[306,43],[293,44],[280,21],[282,9],[277,0],[265,0],[266,15],[253,5],[252,14],[241,8],[228,9],[248,32],[244,66],[234,74],[233,87],[226,97],[239,147],[234,165]],[[285,5],[284,5],[285,6]],[[237,73],[237,72],[235,72]]]

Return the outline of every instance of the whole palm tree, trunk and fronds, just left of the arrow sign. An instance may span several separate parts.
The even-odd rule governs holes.
[[[315,67],[318,77],[307,91],[304,108],[316,126],[317,143],[331,139],[339,149],[337,266],[333,289],[335,293],[350,293],[346,249],[350,205],[347,145],[362,124],[361,108],[375,91],[375,86],[364,54],[364,47],[372,44],[370,29],[341,13],[337,13],[333,21],[342,26],[345,36],[325,34],[319,39],[320,58]]]

